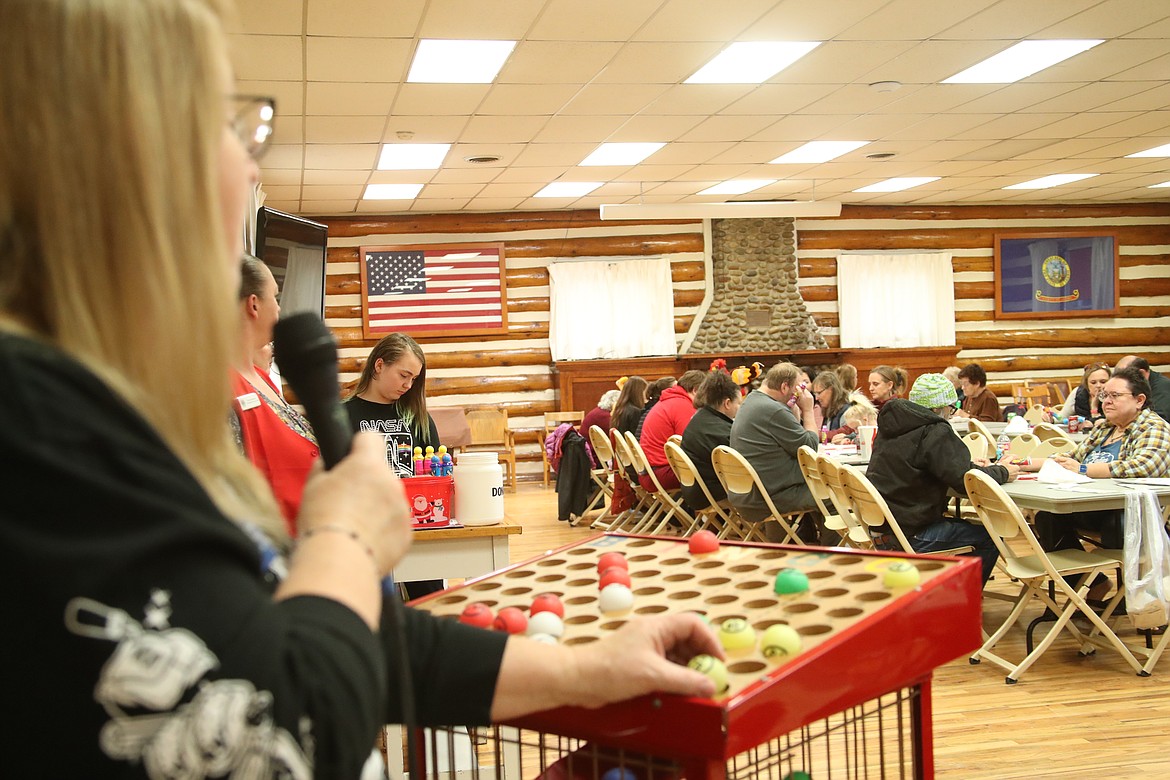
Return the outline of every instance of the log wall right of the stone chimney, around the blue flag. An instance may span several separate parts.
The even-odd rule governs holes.
[[[1119,317],[994,319],[993,234],[1032,228],[1117,234]],[[800,292],[830,347],[840,345],[838,253],[883,249],[952,253],[958,365],[980,364],[1000,401],[1025,379],[1080,381],[1090,360],[1141,354],[1170,368],[1170,203],[845,206],[840,218],[797,220]]]

